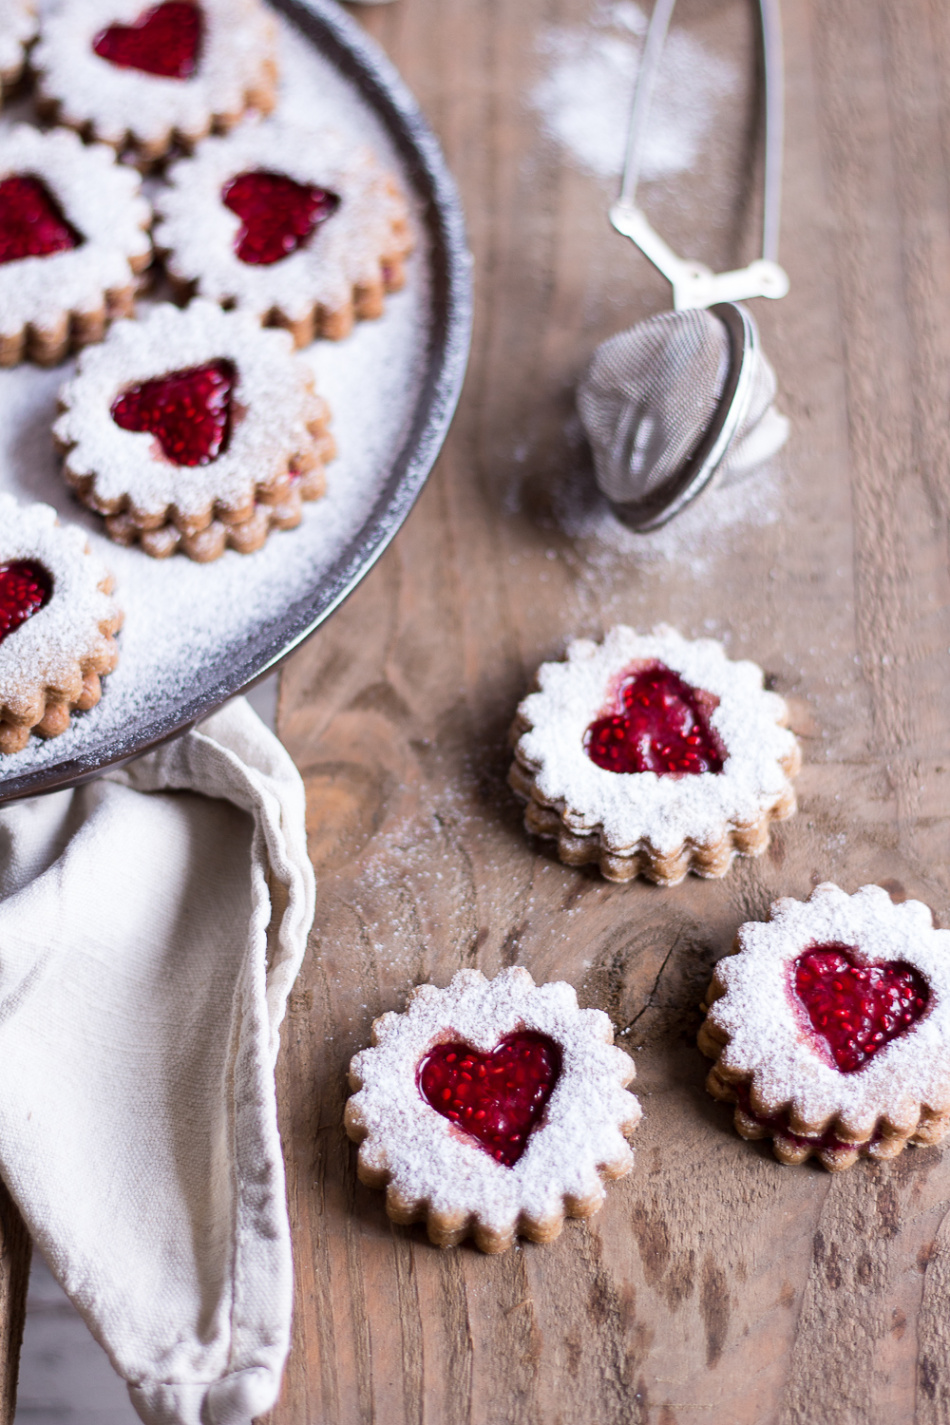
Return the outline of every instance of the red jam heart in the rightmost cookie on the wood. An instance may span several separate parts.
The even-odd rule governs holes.
[[[850,945],[813,945],[795,962],[792,983],[809,1023],[842,1073],[855,1073],[926,1013],[930,990],[903,960],[859,965]]]

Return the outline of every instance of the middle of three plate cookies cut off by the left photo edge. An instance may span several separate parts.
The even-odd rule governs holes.
[[[0,366],[60,362],[131,312],[151,261],[140,190],[110,148],[66,130],[0,135]]]

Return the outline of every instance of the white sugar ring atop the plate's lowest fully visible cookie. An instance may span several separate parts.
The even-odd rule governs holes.
[[[148,432],[124,430],[113,420],[113,403],[128,386],[218,359],[234,363],[234,400],[242,416],[216,460],[174,465]],[[184,312],[162,304],[140,321],[118,322],[101,346],[83,353],[78,375],[63,388],[67,409],[54,429],[74,447],[71,475],[94,477],[90,503],[108,506],[128,496],[137,512],[154,516],[171,506],[182,514],[214,504],[241,509],[258,484],[286,472],[309,447],[309,426],[323,409],[312,379],[289,332],[265,331],[251,314],[224,312],[214,302],[198,299]]]

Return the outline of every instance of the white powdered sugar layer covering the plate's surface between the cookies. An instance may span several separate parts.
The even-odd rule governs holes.
[[[330,124],[380,162],[412,192],[404,168],[375,114],[329,61],[281,21],[279,111],[308,127]],[[0,121],[0,131],[7,127]],[[20,502],[53,504],[64,522],[87,530],[107,560],[125,608],[121,660],[94,712],[75,717],[63,737],[34,740],[0,760],[0,785],[33,767],[50,765],[93,747],[128,745],[151,720],[174,717],[194,695],[198,670],[226,667],[262,627],[312,590],[353,540],[383,489],[407,436],[426,372],[430,321],[427,254],[422,224],[412,214],[416,252],[407,282],[386,302],[379,321],[360,322],[343,342],[303,351],[316,389],[330,406],[339,456],[328,469],[322,500],[306,504],[296,530],[276,532],[256,554],[225,553],[214,564],[182,557],[150,559],[121,549],[103,533],[101,519],[70,494],[54,452],[51,426],[57,392],[74,363],[56,370],[21,366],[0,372],[0,490]]]

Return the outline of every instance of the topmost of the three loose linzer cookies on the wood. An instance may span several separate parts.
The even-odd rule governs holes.
[[[790,817],[800,752],[753,663],[709,638],[622,624],[541,664],[518,707],[508,781],[567,865],[675,885],[759,855]]]

